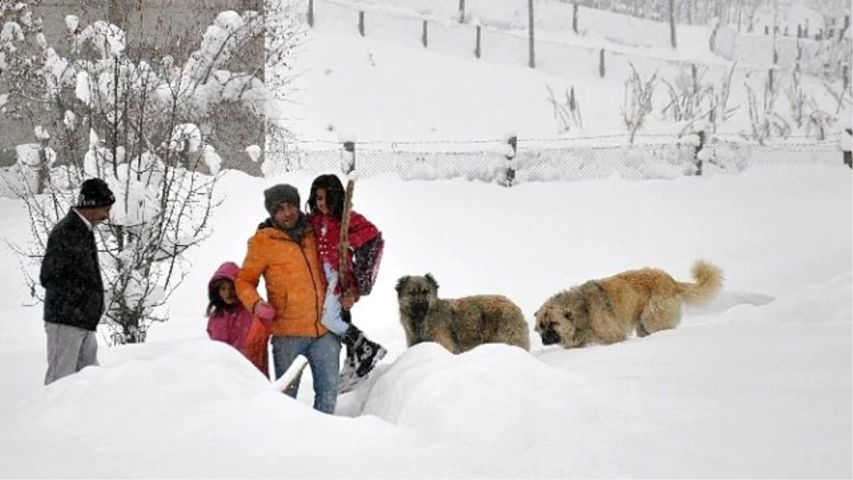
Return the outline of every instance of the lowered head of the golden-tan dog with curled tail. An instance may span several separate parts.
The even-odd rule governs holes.
[[[577,291],[561,292],[551,297],[534,316],[536,325],[533,331],[542,337],[543,345],[560,343],[565,348],[572,348],[583,343],[579,334],[589,325],[589,306]]]

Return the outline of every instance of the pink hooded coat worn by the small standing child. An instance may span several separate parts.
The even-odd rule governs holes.
[[[223,263],[213,274],[208,288],[213,282],[228,278],[233,283],[237,278],[240,267],[234,262]],[[228,343],[245,355],[248,360],[258,367],[264,375],[270,377],[269,355],[267,342],[270,340],[270,329],[252,315],[242,304],[232,310],[216,309],[207,319],[207,335],[212,340]]]

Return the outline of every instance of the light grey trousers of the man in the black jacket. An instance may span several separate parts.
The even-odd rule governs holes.
[[[50,322],[44,322],[44,331],[48,335],[45,385],[79,372],[86,366],[98,365],[98,339],[94,331]]]

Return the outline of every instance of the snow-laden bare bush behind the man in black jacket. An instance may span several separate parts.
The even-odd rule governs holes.
[[[158,307],[188,272],[184,252],[207,236],[224,162],[212,143],[222,145],[235,130],[225,120],[230,116],[263,135],[272,89],[262,80],[264,56],[246,51],[276,48],[267,58],[280,61],[298,40],[298,21],[286,10],[270,12],[275,24],[257,12],[223,12],[201,38],[180,38],[197,45],[181,64],[169,52],[152,57],[128,49],[126,32],[106,21],[83,25],[68,15],[67,36],[49,44],[26,2],[0,0],[0,17],[6,66],[0,91],[9,92],[3,113],[49,120],[35,132],[38,155],[19,155],[18,176],[27,182],[20,184],[20,196],[30,209],[35,240],[20,254],[38,259],[79,184],[105,179],[117,199],[110,224],[98,236],[106,323],[113,342],[142,342],[148,326],[166,318]],[[276,39],[265,43],[268,27]],[[258,65],[228,69],[247,58]],[[257,143],[252,138],[234,147],[248,161],[242,152]],[[30,164],[52,167],[44,169],[47,195],[32,187],[25,171]],[[26,282],[39,296],[32,276]]]

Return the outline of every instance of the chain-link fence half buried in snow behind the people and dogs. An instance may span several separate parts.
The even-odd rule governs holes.
[[[697,143],[549,147],[518,141],[413,146],[415,143],[356,143],[350,153],[342,144],[293,143],[266,152],[264,174],[346,172],[354,162],[360,176],[396,173],[403,179],[462,178],[517,184],[612,175],[629,179],[715,175],[791,163],[844,164],[837,140],[762,145],[712,139],[701,148]]]

